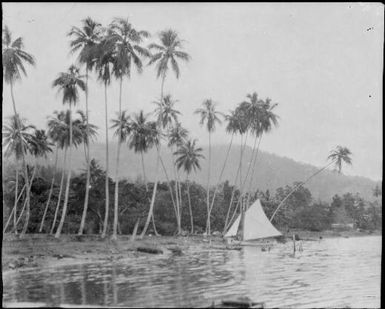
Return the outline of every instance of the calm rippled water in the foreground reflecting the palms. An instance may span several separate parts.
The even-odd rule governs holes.
[[[308,241],[270,252],[190,247],[182,256],[20,271],[4,302],[190,307],[248,296],[267,307],[380,307],[381,236]]]

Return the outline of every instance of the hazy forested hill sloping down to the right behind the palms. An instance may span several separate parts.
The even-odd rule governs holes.
[[[116,144],[110,144],[110,176],[115,177],[115,161],[116,161]],[[204,148],[203,154],[208,155],[207,148]],[[215,184],[218,181],[220,170],[222,168],[225,154],[227,151],[226,145],[216,145],[212,147],[212,170],[211,170],[211,183]],[[243,175],[246,175],[247,162],[250,161],[252,153],[251,147],[245,149],[245,160],[242,168]],[[165,164],[166,170],[169,176],[172,178],[172,160],[171,151],[162,148],[162,159]],[[234,182],[236,171],[239,163],[240,146],[233,146],[228,158],[228,164],[224,171],[222,181],[229,180]],[[95,143],[91,146],[91,157],[99,161],[101,166],[105,166],[105,148],[104,144]],[[59,156],[60,158],[60,156]],[[53,162],[54,158],[51,155],[46,162]],[[146,176],[149,180],[154,180],[156,175],[156,152],[151,150],[144,156]],[[60,160],[61,161],[61,160]],[[140,155],[134,154],[128,149],[128,147],[122,146],[120,157],[119,173],[123,178],[128,178],[135,181],[138,178],[142,178],[142,167],[140,161]],[[197,174],[191,175],[191,179],[195,180],[202,185],[207,184],[207,165],[206,160],[201,161],[201,171]],[[83,147],[76,149],[73,154],[72,161],[73,169],[76,172],[80,172],[84,168],[84,151]],[[253,180],[253,188],[260,190],[269,189],[271,192],[275,192],[278,187],[285,185],[292,185],[295,181],[303,181],[315,171],[318,167],[296,162],[286,157],[280,157],[275,154],[271,154],[265,151],[260,151],[258,154],[255,179]],[[165,175],[161,166],[159,166],[160,180],[165,180]],[[185,175],[182,176],[183,178]],[[338,174],[337,172],[326,170],[313,178],[306,187],[312,192],[315,200],[320,199],[322,201],[330,201],[335,194],[344,194],[346,192],[356,193],[358,192],[363,198],[373,199],[373,188],[377,183],[371,179],[358,176],[346,176]]]

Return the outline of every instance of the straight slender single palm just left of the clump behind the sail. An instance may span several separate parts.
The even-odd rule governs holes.
[[[209,158],[207,168],[207,223],[206,232],[210,235],[210,165],[211,165],[211,134],[215,131],[216,123],[221,124],[219,116],[223,116],[221,112],[216,110],[216,103],[211,99],[203,101],[202,108],[198,108],[194,113],[200,115],[200,124],[206,123],[207,131],[209,132]]]

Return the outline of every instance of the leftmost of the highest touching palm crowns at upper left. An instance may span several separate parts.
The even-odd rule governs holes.
[[[70,42],[71,52],[79,51],[78,62],[91,70],[95,65],[97,48],[101,40],[101,24],[87,17],[82,20],[81,28],[72,27],[68,36],[73,38]]]

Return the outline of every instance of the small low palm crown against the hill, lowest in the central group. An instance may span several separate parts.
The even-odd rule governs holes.
[[[187,174],[190,174],[192,170],[200,169],[199,159],[203,159],[201,154],[202,148],[196,147],[196,140],[189,140],[183,143],[180,148],[174,152],[174,155],[178,156],[176,159],[176,165],[178,170],[183,167]]]

